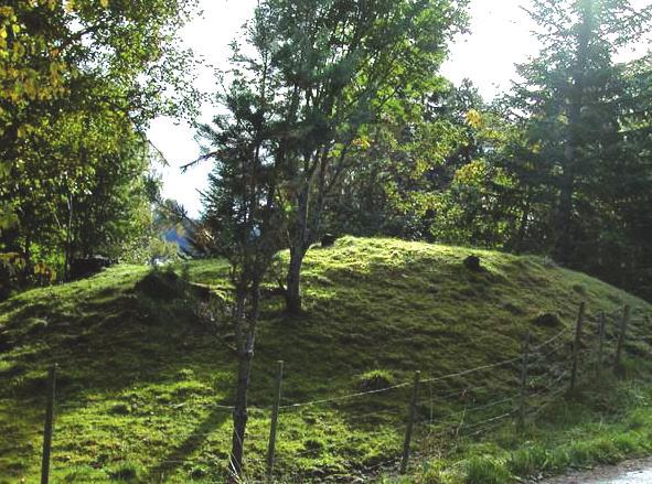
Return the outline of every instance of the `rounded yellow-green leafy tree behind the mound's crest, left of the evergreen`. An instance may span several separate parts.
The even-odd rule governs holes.
[[[470,82],[443,79],[366,128],[329,205],[333,232],[494,246],[514,224],[515,181],[494,164],[511,130]]]

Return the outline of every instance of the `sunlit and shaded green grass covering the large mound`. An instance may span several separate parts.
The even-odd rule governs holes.
[[[471,254],[480,256],[484,271],[463,267]],[[224,262],[193,261],[177,272],[227,304]],[[148,275],[143,267],[119,266],[0,303],[0,483],[38,478],[52,363],[60,365],[54,482],[223,481],[231,416],[222,406],[233,396],[233,334],[217,312],[215,337],[204,323],[209,309],[189,297],[186,286],[164,278],[150,286]],[[599,311],[627,303],[634,314],[652,312],[645,302],[547,259],[394,239],[346,237],[311,250],[301,318],[284,315],[272,286],[265,293],[252,378],[250,478],[264,473],[278,359],[285,361],[288,406],[409,383],[417,369],[427,379],[516,358],[527,332],[541,343],[570,329],[580,301],[587,302],[587,333]],[[652,369],[644,341],[651,332],[642,319],[632,320],[628,377]],[[610,320],[609,348],[616,334]],[[539,365],[552,367],[558,357]],[[425,385],[417,419],[453,412],[472,428],[473,418],[489,410],[472,416],[466,409],[514,394],[519,370],[514,363]],[[605,383],[594,388],[598,380]],[[417,426],[408,482],[501,484],[652,451],[644,430],[652,422],[650,387],[640,381],[633,387],[630,380],[582,376],[575,399],[548,407],[523,431],[505,420],[482,438],[462,432],[442,439]],[[365,470],[382,470],[400,453],[409,394],[407,385],[286,408],[277,474],[288,482],[371,478]],[[382,474],[375,473],[394,482]]]

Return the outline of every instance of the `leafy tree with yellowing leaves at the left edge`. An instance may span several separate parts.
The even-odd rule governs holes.
[[[30,259],[36,244],[63,252],[67,268],[75,254],[92,245],[105,251],[103,240],[133,233],[147,122],[188,112],[194,99],[181,82],[191,58],[174,42],[193,6],[17,0],[0,8],[6,248]]]

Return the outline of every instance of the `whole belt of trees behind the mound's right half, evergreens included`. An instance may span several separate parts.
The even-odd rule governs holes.
[[[432,78],[361,128],[329,200],[332,233],[551,255],[650,293],[650,56],[617,54],[651,29],[624,0],[533,2],[539,55],[488,106]],[[423,88],[424,86],[421,86]]]

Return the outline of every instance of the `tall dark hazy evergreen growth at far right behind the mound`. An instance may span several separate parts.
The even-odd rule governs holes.
[[[650,97],[634,86],[650,63],[613,58],[650,32],[652,9],[621,0],[533,6],[544,47],[520,66],[524,82],[510,104],[523,137],[504,159],[526,211],[517,247],[549,251],[622,287],[644,286],[650,258],[638,230],[650,221],[642,215],[650,138],[640,136],[649,130],[639,109],[649,111]]]

